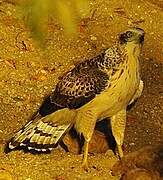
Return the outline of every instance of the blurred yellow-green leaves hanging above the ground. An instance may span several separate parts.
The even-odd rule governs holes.
[[[68,35],[77,33],[77,23],[88,15],[88,0],[26,0],[18,1],[25,21],[35,39],[43,41],[48,19],[58,21]]]

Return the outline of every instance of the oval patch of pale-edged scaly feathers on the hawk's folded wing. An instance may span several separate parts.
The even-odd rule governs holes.
[[[74,69],[57,84],[51,102],[62,108],[80,108],[103,91],[108,83],[108,75],[97,68]]]

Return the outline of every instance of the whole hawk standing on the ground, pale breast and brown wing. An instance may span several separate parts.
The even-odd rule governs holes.
[[[51,150],[74,126],[85,138],[83,166],[87,168],[88,144],[95,124],[109,117],[122,157],[126,107],[143,89],[139,76],[143,41],[144,31],[131,28],[120,34],[114,46],[64,74],[37,115],[11,139],[9,149],[26,146]]]

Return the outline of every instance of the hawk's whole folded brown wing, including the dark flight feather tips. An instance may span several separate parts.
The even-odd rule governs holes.
[[[100,59],[103,57],[84,61],[66,73],[44,101],[40,114],[45,116],[62,108],[80,108],[103,91],[109,84],[109,76],[101,68]]]

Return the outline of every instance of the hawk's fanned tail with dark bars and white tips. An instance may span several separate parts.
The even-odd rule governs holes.
[[[75,111],[67,108],[58,110],[50,115],[27,123],[9,143],[9,149],[18,146],[27,147],[29,150],[52,150],[56,143],[72,127]]]

